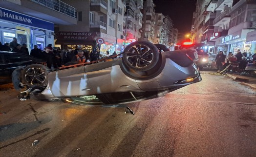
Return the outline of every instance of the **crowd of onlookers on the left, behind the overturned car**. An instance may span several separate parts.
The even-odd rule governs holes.
[[[21,44],[17,42],[17,38],[13,38],[10,43],[4,43],[3,45],[0,43],[0,50],[22,53],[38,59],[43,59],[46,61],[46,66],[48,68],[62,67],[68,62],[72,62],[73,64],[90,62],[91,64],[100,59],[100,53],[96,47],[93,47],[92,51],[89,52],[86,48],[83,49],[80,45],[74,50],[72,48],[61,50],[60,47],[52,47],[52,44],[48,44],[43,51],[39,49],[37,45],[34,45],[29,54],[27,45],[23,43],[21,46]],[[112,55],[109,55],[108,51],[106,53],[107,57],[117,55],[115,52]]]

